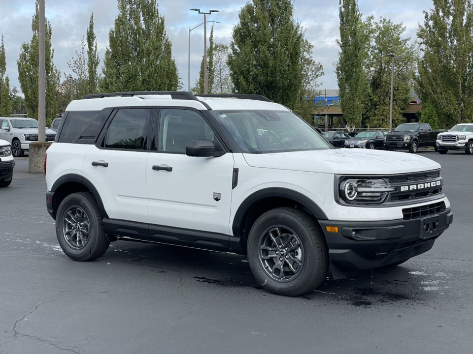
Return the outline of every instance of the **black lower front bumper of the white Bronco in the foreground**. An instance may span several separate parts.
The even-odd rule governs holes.
[[[343,271],[389,266],[427,252],[452,222],[450,208],[411,220],[319,220],[330,261]],[[338,232],[327,232],[326,226],[338,227]]]

